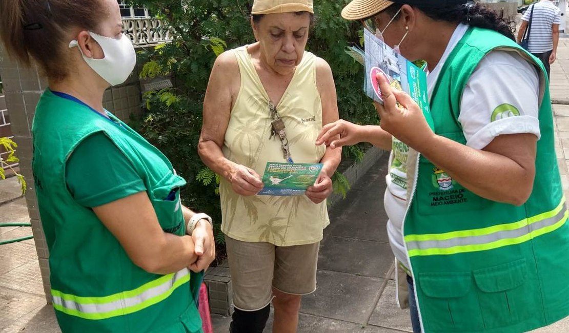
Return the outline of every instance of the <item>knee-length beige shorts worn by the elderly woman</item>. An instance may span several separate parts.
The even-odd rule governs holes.
[[[233,304],[237,309],[263,309],[273,299],[273,287],[292,295],[307,295],[316,290],[320,242],[278,247],[270,243],[241,242],[225,236],[225,245]]]

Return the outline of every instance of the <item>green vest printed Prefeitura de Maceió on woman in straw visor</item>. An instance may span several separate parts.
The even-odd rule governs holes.
[[[522,206],[494,202],[419,155],[403,235],[425,332],[523,332],[569,315],[568,211],[543,65],[498,32],[470,28],[432,95],[434,131],[466,143],[457,120],[463,89],[494,49],[517,52],[544,73],[535,184]]]

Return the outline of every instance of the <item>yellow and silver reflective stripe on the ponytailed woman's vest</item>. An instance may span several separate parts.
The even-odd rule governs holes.
[[[168,298],[189,281],[189,269],[164,275],[137,289],[105,297],[81,297],[51,289],[53,307],[68,315],[92,320],[135,313]],[[189,288],[189,287],[188,287]]]

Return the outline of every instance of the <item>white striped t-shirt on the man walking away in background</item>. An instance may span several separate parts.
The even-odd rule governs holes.
[[[529,22],[532,7],[530,42],[527,48],[531,53],[549,52],[553,49],[552,26],[561,24],[561,10],[552,1],[542,0],[531,5],[523,13],[522,20]]]

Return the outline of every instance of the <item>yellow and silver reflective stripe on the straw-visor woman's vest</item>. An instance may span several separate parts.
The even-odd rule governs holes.
[[[569,217],[565,198],[559,206],[518,222],[444,234],[408,235],[409,256],[454,255],[520,244],[562,227]]]

